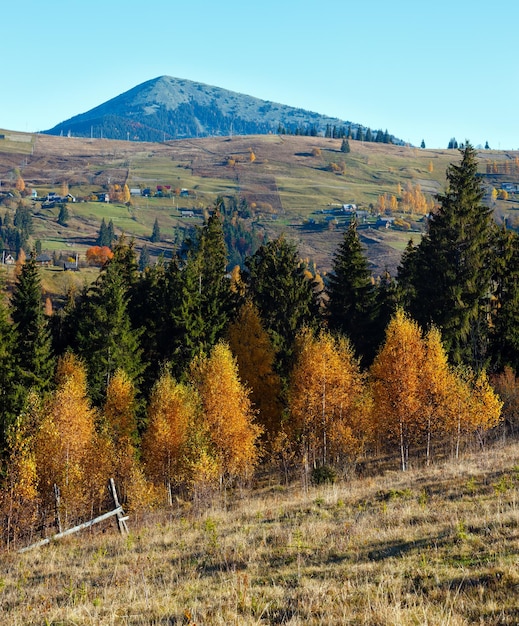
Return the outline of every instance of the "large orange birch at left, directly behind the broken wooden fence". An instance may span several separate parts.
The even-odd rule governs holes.
[[[53,509],[56,484],[67,521],[101,508],[112,468],[107,443],[95,430],[97,414],[87,396],[83,363],[66,354],[58,361],[56,379],[34,449],[44,509]]]

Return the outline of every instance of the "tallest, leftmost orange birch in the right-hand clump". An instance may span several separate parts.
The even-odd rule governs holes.
[[[404,471],[409,465],[409,448],[422,429],[424,361],[422,332],[398,309],[370,368],[370,378],[378,435],[382,441],[398,443]]]

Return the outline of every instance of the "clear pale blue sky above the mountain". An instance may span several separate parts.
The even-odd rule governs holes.
[[[0,128],[38,131],[157,76],[428,148],[519,149],[519,3],[27,0],[2,7]]]

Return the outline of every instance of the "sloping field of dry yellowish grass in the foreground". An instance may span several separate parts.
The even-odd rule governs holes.
[[[263,483],[0,557],[2,623],[519,623],[519,444],[328,486]]]

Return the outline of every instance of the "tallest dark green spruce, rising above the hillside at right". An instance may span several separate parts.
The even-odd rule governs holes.
[[[470,144],[447,169],[447,190],[416,251],[410,313],[435,324],[454,363],[480,369],[488,341],[494,222],[482,204],[477,153]]]

